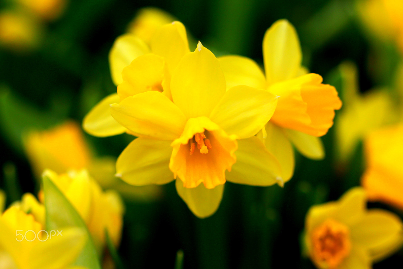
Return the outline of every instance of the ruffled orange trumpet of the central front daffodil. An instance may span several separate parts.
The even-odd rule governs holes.
[[[207,152],[202,152],[202,149],[191,150],[192,141],[195,145],[196,140],[193,136],[197,133],[204,133],[206,139],[209,139],[211,145],[208,150],[205,146]],[[181,137],[171,145],[173,151],[169,168],[187,188],[197,187],[202,182],[208,189],[224,184],[225,170],[231,170],[236,161],[236,136],[227,135],[207,117],[189,119]]]

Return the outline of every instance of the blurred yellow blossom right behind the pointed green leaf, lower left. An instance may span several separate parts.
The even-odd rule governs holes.
[[[125,209],[118,193],[112,190],[102,191],[86,170],[71,170],[60,175],[45,170],[44,174],[62,191],[83,218],[99,253],[106,244],[105,229],[115,246],[119,245]],[[46,199],[43,193],[39,198]]]

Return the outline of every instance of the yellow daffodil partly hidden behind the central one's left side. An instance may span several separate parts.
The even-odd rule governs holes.
[[[109,55],[112,80],[117,93],[102,99],[83,120],[83,129],[90,135],[108,137],[127,132],[110,115],[110,104],[137,93],[156,90],[170,95],[170,78],[182,57],[189,53],[185,26],[174,21],[153,34],[150,46],[134,36],[119,37]]]

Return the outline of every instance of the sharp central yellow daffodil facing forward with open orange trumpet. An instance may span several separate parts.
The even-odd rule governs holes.
[[[237,139],[240,154],[252,155],[241,172],[269,169],[261,164],[271,155],[253,136],[270,120],[277,96],[249,86],[226,91],[216,57],[200,42],[174,70],[170,93],[172,101],[152,90],[111,105],[112,117],[139,136],[120,154],[117,175],[133,185],[177,178],[177,191],[193,213],[210,216],[220,204],[225,171],[237,161]],[[278,174],[263,174],[259,179],[266,185],[276,182]]]

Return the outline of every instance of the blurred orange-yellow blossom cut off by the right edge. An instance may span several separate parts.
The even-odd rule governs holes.
[[[403,210],[403,125],[371,132],[364,140],[366,170],[361,184],[371,201]]]

